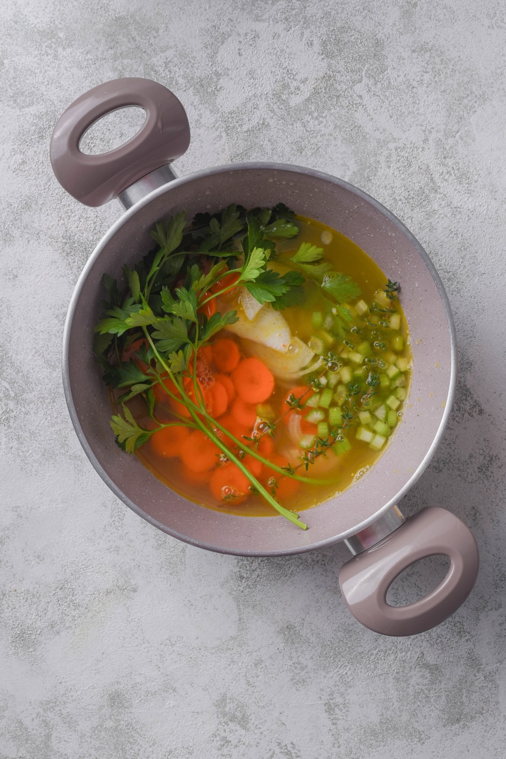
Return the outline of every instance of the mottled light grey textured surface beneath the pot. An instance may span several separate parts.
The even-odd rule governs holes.
[[[3,6],[2,759],[506,755],[505,11],[498,0]],[[384,203],[432,257],[460,379],[403,507],[447,506],[482,561],[439,628],[390,639],[360,627],[338,591],[344,546],[240,559],[178,543],[85,458],[61,332],[119,206],[68,197],[49,138],[74,98],[124,76],[165,84],[187,108],[178,172],[250,159],[321,169]],[[440,572],[411,572],[398,600]]]

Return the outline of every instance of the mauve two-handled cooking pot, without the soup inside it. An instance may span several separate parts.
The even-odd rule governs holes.
[[[80,140],[109,112],[140,106],[146,120],[123,146],[84,155]],[[63,382],[81,445],[111,490],[162,531],[207,550],[238,556],[286,556],[344,540],[354,554],[339,582],[351,613],[385,635],[413,635],[438,625],[464,602],[478,571],[476,541],[455,515],[436,505],[405,520],[399,502],[435,452],[450,414],[456,377],[455,329],[448,297],[432,262],[410,231],[372,197],[322,172],[278,163],[236,163],[180,177],[171,162],[190,144],[181,102],[161,84],[127,78],[80,96],[56,124],[51,160],[56,178],[81,203],[117,197],[124,208],[86,263],[64,326]],[[285,203],[337,229],[401,282],[413,376],[402,424],[370,471],[357,472],[343,493],[304,512],[302,531],[280,516],[248,518],[205,509],[156,479],[118,449],[111,407],[93,358],[102,275],[121,278],[152,245],[149,230],[178,211],[188,217],[231,203],[252,208]],[[422,600],[386,603],[388,587],[424,556],[445,555],[445,579]]]

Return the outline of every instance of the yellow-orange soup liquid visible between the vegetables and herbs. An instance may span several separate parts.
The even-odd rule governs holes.
[[[371,306],[375,294],[378,291],[384,290],[388,279],[388,272],[387,276],[385,276],[382,270],[379,269],[379,266],[377,266],[360,247],[354,244],[350,239],[344,237],[344,235],[341,235],[340,232],[335,231],[320,222],[316,222],[313,219],[306,219],[301,216],[297,216],[297,225],[300,226],[300,232],[296,238],[277,242],[276,250],[278,257],[291,257],[299,249],[302,242],[310,242],[317,247],[323,247],[324,258],[322,261],[332,263],[332,266],[336,271],[350,276],[354,282],[357,282],[362,290],[360,298],[355,298],[353,301],[350,301],[350,305],[353,306],[357,301],[365,301],[366,304]],[[287,267],[283,266],[278,260],[269,264],[268,268],[274,268],[279,272],[287,270]],[[303,342],[308,342],[312,335],[314,335],[315,332],[318,332],[313,326],[313,312],[321,311],[322,313],[325,313],[325,310],[328,310],[328,302],[325,303],[325,301],[323,301],[320,294],[321,290],[317,285],[306,283],[304,287],[306,290],[306,301],[303,306],[291,307],[284,310],[282,313],[291,327],[292,335],[299,337]],[[388,346],[386,351],[375,350],[375,356],[379,357],[381,353],[382,357],[385,357],[386,355],[387,359],[393,358],[395,360],[399,357],[404,357],[411,362],[407,322],[399,301],[394,301],[394,307],[397,313],[401,315],[401,328],[395,331],[390,330],[389,332],[388,329],[382,329],[379,327],[378,329],[381,332],[379,337],[381,340],[384,340],[394,335],[401,335],[404,341],[404,348],[401,351],[392,351],[391,347]],[[363,318],[355,311],[353,315],[353,323],[356,323],[358,328],[362,330],[362,334],[350,335],[348,333],[345,339],[354,342],[354,344],[357,345],[361,340],[363,341],[369,336],[367,329],[369,329],[370,332],[370,329],[372,328],[366,326],[366,321],[371,319],[371,314],[368,313],[366,314],[366,317]],[[378,320],[381,318],[385,318],[382,316],[381,312],[379,312],[379,314],[372,314],[372,320]],[[240,339],[238,339],[238,342],[241,344]],[[329,350],[332,350],[336,354],[338,354],[343,348],[344,350],[346,349],[342,340],[338,338],[336,338],[335,342],[328,347]],[[247,351],[245,351],[245,353],[247,354]],[[342,359],[341,363],[349,366],[352,370],[360,370],[360,365],[353,364],[353,362],[347,361],[346,359]],[[385,361],[385,365],[386,364],[388,364],[388,366],[392,365],[389,361]],[[322,373],[322,371],[322,369],[319,369],[317,373]],[[372,367],[372,371],[376,373],[384,372],[384,370],[378,367]],[[368,372],[369,369],[365,371],[363,379],[366,378]],[[407,392],[410,380],[409,371],[404,373],[404,378],[404,389]],[[354,377],[354,379],[356,378]],[[341,379],[339,382],[341,383]],[[306,379],[300,377],[298,380],[293,381],[292,385],[301,386],[306,383]],[[391,384],[394,384],[394,382]],[[283,411],[286,411],[287,407],[284,405],[284,398],[286,398],[289,389],[290,386],[288,384],[283,384],[282,381],[277,381],[275,391],[272,397],[269,398],[268,403],[275,409],[277,418],[281,416]],[[376,404],[379,399],[384,402],[394,391],[394,388],[380,389],[377,387],[375,389],[378,392],[376,398],[372,398],[372,400]],[[363,397],[366,390],[367,387],[364,386],[364,389],[357,396],[357,399],[359,399],[359,406],[360,398]],[[404,403],[405,401],[401,402],[395,410],[395,413],[398,414],[399,422],[401,421]],[[132,405],[130,405],[130,409],[140,424],[145,424],[146,426],[149,424],[149,420],[145,417],[143,405],[140,400],[137,399],[137,402],[133,402]],[[391,409],[388,408],[388,411],[391,411]],[[164,415],[163,409],[156,409],[156,414],[161,421],[169,419],[166,414],[166,418],[162,418]],[[372,422],[369,424],[369,429],[372,428],[373,424],[377,424],[378,422],[375,414],[372,413],[371,415]],[[350,487],[357,478],[365,474],[365,472],[372,467],[379,456],[385,451],[388,446],[388,440],[382,446],[381,450],[378,451],[372,449],[367,442],[357,439],[357,430],[359,427],[360,424],[358,420],[355,419],[350,429],[346,430],[345,435],[351,445],[349,451],[344,452],[341,455],[335,455],[332,450],[329,450],[325,455],[316,458],[316,461],[309,466],[307,472],[303,466],[297,469],[297,474],[305,474],[306,472],[308,477],[325,480],[325,484],[316,485],[300,483],[295,493],[284,498],[276,496],[278,501],[287,509],[301,512],[305,509],[310,509],[313,505],[321,503],[334,496],[336,493],[345,490],[347,487]],[[394,433],[395,430],[393,430],[391,435],[394,435]],[[374,434],[376,435],[376,432]],[[297,446],[294,446],[294,441],[288,435],[286,425],[280,422],[276,425],[275,430],[275,451],[286,454],[288,450],[293,452],[294,449],[297,451],[299,458],[298,460],[291,458],[290,463],[292,467],[295,468],[297,464],[300,465],[300,456],[303,455],[304,452],[297,449]],[[140,461],[143,462],[143,465],[152,471],[152,474],[154,474],[159,480],[162,480],[162,482],[170,487],[171,490],[180,493],[181,496],[184,496],[190,501],[206,506],[209,509],[215,509],[216,511],[227,512],[229,514],[244,516],[273,516],[276,514],[272,506],[262,499],[261,496],[255,494],[251,494],[246,501],[236,505],[234,505],[233,502],[228,502],[226,504],[218,502],[209,490],[209,473],[198,474],[193,471],[187,471],[181,464],[179,458],[162,458],[161,456],[156,455],[150,449],[149,442],[138,449],[136,455],[140,458]],[[266,456],[266,458],[269,458],[269,456]],[[275,472],[271,471],[271,473],[276,476]]]

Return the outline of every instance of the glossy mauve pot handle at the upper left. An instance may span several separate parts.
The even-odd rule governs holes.
[[[79,150],[86,129],[105,114],[140,106],[146,121],[127,143],[99,156]],[[53,172],[64,189],[86,206],[102,206],[141,177],[182,156],[190,125],[178,98],[162,84],[131,77],[88,90],[68,106],[51,138]]]

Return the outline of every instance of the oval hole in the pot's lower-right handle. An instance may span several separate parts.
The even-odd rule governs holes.
[[[450,559],[442,554],[425,556],[410,564],[388,588],[388,606],[407,606],[425,598],[445,579],[449,568]]]

